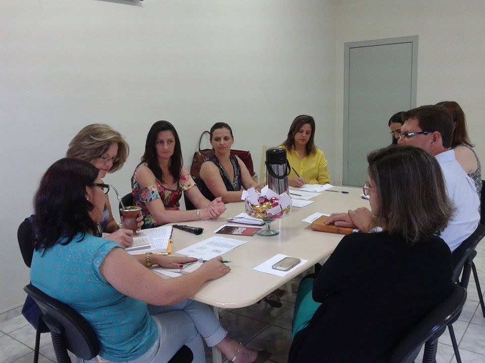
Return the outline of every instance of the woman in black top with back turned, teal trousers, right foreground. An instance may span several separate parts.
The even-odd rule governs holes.
[[[440,165],[412,146],[367,159],[376,228],[345,236],[318,277],[302,281],[289,363],[387,362],[452,290],[450,249],[434,235],[453,210]]]

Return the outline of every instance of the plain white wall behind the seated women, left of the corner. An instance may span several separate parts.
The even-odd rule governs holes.
[[[332,1],[2,2],[0,312],[29,281],[16,230],[39,177],[87,124],[126,136],[128,161],[105,179],[123,194],[159,119],[177,128],[187,164],[204,129],[229,123],[259,171],[261,145],[312,114],[335,175],[334,19]]]

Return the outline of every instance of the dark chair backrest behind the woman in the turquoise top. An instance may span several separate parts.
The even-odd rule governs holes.
[[[89,323],[76,311],[61,301],[45,294],[32,284],[24,287],[24,291],[32,297],[42,311],[44,321],[51,331],[62,328],[62,335],[69,351],[78,357],[89,360],[98,355],[100,343]]]

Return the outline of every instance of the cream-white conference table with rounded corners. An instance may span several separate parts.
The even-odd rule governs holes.
[[[271,223],[272,229],[278,229],[276,236],[237,236],[224,235],[247,241],[246,244],[224,254],[224,259],[231,260],[231,271],[223,277],[209,281],[191,298],[214,307],[219,317],[218,308],[244,308],[255,304],[278,287],[292,280],[300,273],[329,256],[342,239],[343,235],[313,231],[310,224],[302,219],[309,215],[321,213],[347,212],[349,209],[369,207],[369,201],[361,198],[362,188],[334,187],[332,190],[348,191],[349,194],[322,192],[311,199],[312,204],[304,208],[292,208],[289,215]],[[173,255],[176,252],[215,235],[214,231],[224,224],[224,219],[244,212],[244,203],[228,203],[227,210],[217,220],[186,222],[183,224],[204,228],[200,235],[173,229]],[[180,224],[180,223],[176,223]],[[299,268],[292,270],[284,277],[266,274],[253,270],[276,254],[308,260]],[[163,276],[163,275],[162,275]],[[219,350],[213,349],[214,362],[220,362]]]

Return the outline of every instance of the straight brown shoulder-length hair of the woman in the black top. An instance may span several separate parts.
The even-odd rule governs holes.
[[[441,232],[453,214],[438,161],[414,146],[391,145],[367,156],[383,229],[409,245]]]

